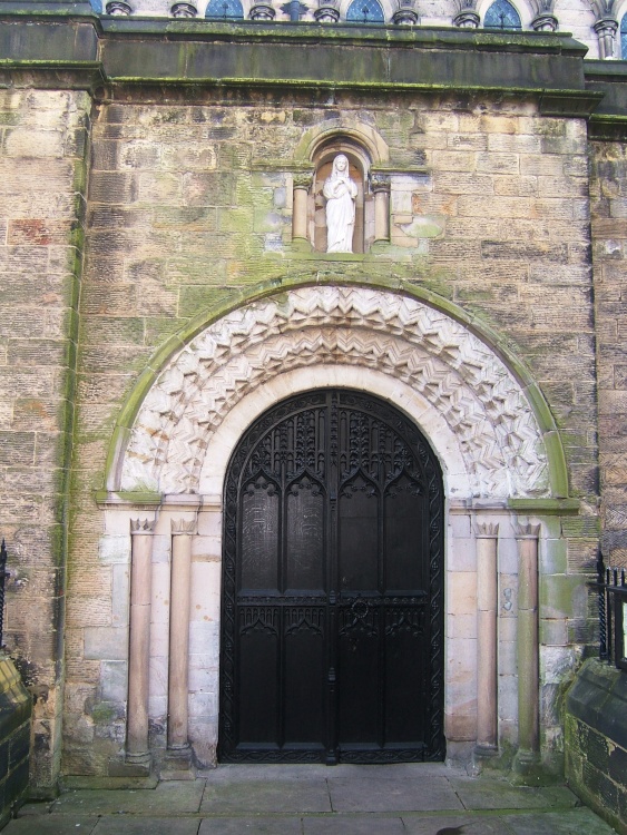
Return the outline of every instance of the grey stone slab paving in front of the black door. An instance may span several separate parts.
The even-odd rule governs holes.
[[[111,785],[115,785],[111,783]],[[219,766],[139,789],[27,804],[6,835],[610,835],[565,786],[519,788],[443,765]]]

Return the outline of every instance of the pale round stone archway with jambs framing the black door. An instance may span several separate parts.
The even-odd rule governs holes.
[[[507,363],[461,321],[461,312],[455,316],[452,306],[444,311],[430,302],[356,285],[302,286],[258,298],[173,351],[126,428],[123,415],[109,489],[118,508],[134,507],[134,497],[153,497],[160,503],[157,531],[169,537],[172,524],[178,548],[173,544],[173,556],[185,551],[193,590],[185,617],[178,611],[177,621],[185,626],[177,646],[186,646],[186,625],[189,619],[194,625],[196,610],[206,621],[189,631],[187,669],[194,680],[203,679],[203,687],[194,690],[179,676],[173,695],[163,682],[151,684],[151,697],[163,692],[163,700],[178,700],[185,726],[178,743],[189,738],[200,762],[215,756],[217,735],[218,668],[208,674],[198,665],[217,652],[221,495],[228,459],[264,410],[315,386],[345,386],[389,400],[429,439],[442,466],[448,513],[448,748],[451,743],[452,748],[457,743],[468,748],[481,735],[488,747],[497,745],[497,687],[509,688],[506,696],[512,701],[516,681],[497,682],[496,616],[490,616],[488,638],[478,639],[478,563],[479,576],[496,578],[497,537],[500,551],[509,554],[506,562],[516,563],[518,520],[508,505],[522,500],[540,507],[564,497],[564,453],[550,412],[523,367]],[[182,528],[182,519],[187,527]],[[523,537],[537,536],[536,528],[525,530]],[[139,542],[147,538],[135,533],[134,560],[135,543],[139,553]],[[177,570],[173,562],[173,577]],[[492,613],[497,588],[496,579],[490,581]],[[168,597],[167,589],[159,593]],[[131,622],[131,635],[133,629]],[[144,642],[148,640],[145,635]],[[170,647],[173,640],[170,629]],[[133,679],[133,659],[130,669]],[[136,749],[147,748],[147,672],[144,681],[145,741]],[[489,698],[478,700],[478,690]],[[478,701],[483,716],[478,716]],[[511,728],[516,723],[513,717]]]

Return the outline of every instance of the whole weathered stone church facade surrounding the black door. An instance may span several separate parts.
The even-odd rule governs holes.
[[[187,6],[0,8],[0,533],[32,786],[215,765],[231,462],[325,391],[393,405],[441,470],[437,757],[561,773],[598,550],[627,559],[627,7],[520,4],[512,30],[481,3]],[[325,246],[337,154],[353,253]]]

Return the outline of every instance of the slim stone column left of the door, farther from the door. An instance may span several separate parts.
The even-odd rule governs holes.
[[[149,768],[148,749],[148,664],[150,654],[150,595],[153,577],[153,531],[155,522],[130,522],[130,623],[128,649],[128,714],[126,759]]]

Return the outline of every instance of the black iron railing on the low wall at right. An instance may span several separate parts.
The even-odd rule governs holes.
[[[627,670],[627,579],[625,568],[611,568],[599,553],[599,657]]]

